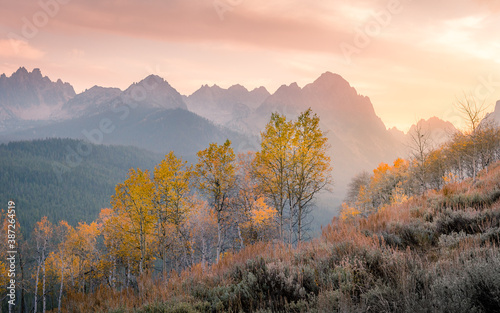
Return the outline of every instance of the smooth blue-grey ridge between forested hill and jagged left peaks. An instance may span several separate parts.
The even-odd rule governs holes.
[[[121,108],[125,108],[122,106]],[[1,141],[66,137],[96,144],[131,145],[158,153],[175,151],[195,160],[210,143],[230,139],[236,151],[255,150],[257,139],[238,134],[183,109],[136,108],[83,116],[9,134]],[[123,119],[122,119],[123,118]],[[106,127],[102,127],[103,123]]]

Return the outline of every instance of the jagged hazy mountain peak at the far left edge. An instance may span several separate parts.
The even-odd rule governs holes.
[[[37,68],[28,72],[21,67],[10,77],[0,75],[0,122],[56,118],[74,96],[70,84],[53,82]]]

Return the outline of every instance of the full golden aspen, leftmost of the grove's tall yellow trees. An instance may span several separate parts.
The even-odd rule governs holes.
[[[116,186],[111,200],[113,210],[118,215],[123,215],[129,223],[121,226],[128,228],[126,233],[130,239],[130,248],[140,252],[140,274],[151,257],[152,236],[156,224],[154,194],[154,184],[149,171],[131,169],[128,178]]]

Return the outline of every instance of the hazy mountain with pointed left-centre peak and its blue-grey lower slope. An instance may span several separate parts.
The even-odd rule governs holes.
[[[154,152],[175,151],[194,160],[212,142],[233,141],[237,151],[255,150],[256,138],[214,125],[189,112],[182,96],[158,76],[125,91],[94,86],[61,106],[61,118],[46,125],[4,134],[4,142],[42,138],[87,139],[92,143],[133,145]]]

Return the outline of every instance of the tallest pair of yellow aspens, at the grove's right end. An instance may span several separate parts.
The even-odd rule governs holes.
[[[278,212],[280,238],[284,239],[288,210],[288,241],[294,241],[296,232],[300,242],[308,205],[332,183],[326,134],[319,127],[319,117],[308,109],[296,121],[273,113],[261,137],[255,176],[262,193]]]

